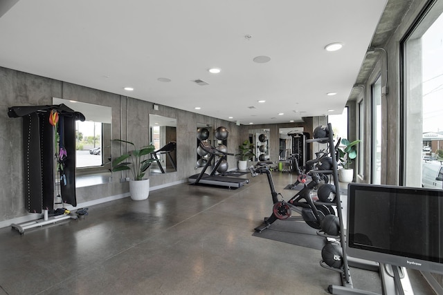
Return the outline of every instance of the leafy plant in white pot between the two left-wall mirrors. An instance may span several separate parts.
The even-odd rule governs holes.
[[[150,157],[155,147],[150,144],[137,149],[136,145],[126,140],[114,140],[115,142],[124,142],[134,146],[132,151],[120,155],[112,161],[112,172],[129,170],[134,180],[129,181],[129,193],[132,200],[145,200],[150,193],[150,180],[145,179],[145,173],[155,160]],[[130,162],[127,162],[129,160]]]

